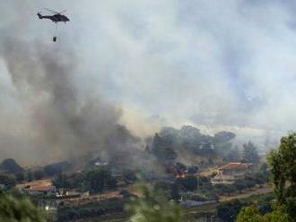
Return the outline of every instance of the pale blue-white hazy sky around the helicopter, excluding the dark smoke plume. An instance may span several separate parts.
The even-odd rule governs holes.
[[[249,132],[252,139],[295,128],[292,1],[0,2],[0,39],[70,48],[79,98],[100,94],[122,107],[121,121],[134,132],[150,133],[154,124],[195,124]],[[58,26],[56,43],[55,25],[36,16],[46,14],[44,8],[66,10],[71,20]],[[21,121],[26,98],[16,95],[1,57],[0,73],[1,118]],[[22,127],[7,133],[18,131]]]

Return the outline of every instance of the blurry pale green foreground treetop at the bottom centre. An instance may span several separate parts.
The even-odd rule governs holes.
[[[168,201],[151,185],[140,184],[141,197],[133,199],[126,209],[130,222],[184,222],[185,212],[175,201]]]

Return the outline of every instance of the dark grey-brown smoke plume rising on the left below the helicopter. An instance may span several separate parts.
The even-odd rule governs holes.
[[[27,107],[29,125],[23,136],[32,134],[32,159],[82,160],[98,154],[125,158],[141,153],[141,141],[118,124],[120,108],[99,95],[79,98],[74,82],[79,61],[74,51],[10,38],[3,43],[1,56]],[[22,143],[13,144],[26,151]]]

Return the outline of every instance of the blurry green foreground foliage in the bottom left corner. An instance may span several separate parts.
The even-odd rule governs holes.
[[[28,199],[16,200],[10,195],[0,195],[0,221],[46,222],[47,215]]]

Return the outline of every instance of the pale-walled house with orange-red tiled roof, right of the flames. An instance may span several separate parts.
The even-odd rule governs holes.
[[[218,169],[218,174],[213,177],[211,183],[233,184],[239,179],[244,179],[246,175],[252,174],[253,165],[248,163],[229,163]]]

